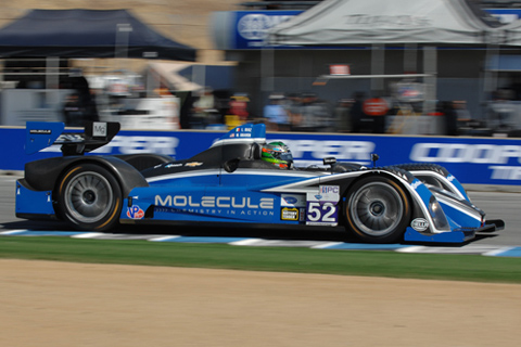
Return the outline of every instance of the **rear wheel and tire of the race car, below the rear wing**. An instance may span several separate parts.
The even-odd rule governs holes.
[[[60,180],[58,203],[61,217],[74,228],[106,231],[119,221],[122,188],[107,169],[79,164]]]

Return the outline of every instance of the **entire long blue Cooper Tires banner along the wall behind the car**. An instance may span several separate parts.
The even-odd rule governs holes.
[[[130,131],[123,130],[93,154],[158,153],[188,158],[206,150],[223,131]],[[434,163],[446,167],[461,183],[521,184],[521,139],[403,137],[268,132],[269,140],[282,140],[291,149],[296,166],[321,165],[323,157],[372,166],[403,163]],[[23,170],[27,162],[59,156],[51,146],[27,155],[25,129],[0,128],[3,155],[0,170]]]

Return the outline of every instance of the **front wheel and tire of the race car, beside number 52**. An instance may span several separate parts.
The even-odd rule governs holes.
[[[403,240],[411,207],[404,188],[386,177],[367,177],[348,191],[346,228],[363,242],[395,243]]]

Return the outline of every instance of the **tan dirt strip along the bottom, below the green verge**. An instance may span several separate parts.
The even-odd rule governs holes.
[[[521,285],[0,260],[0,346],[519,346]]]

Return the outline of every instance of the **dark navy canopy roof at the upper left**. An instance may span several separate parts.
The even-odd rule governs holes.
[[[126,10],[31,10],[0,29],[0,57],[125,57],[195,61]]]

